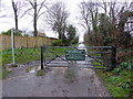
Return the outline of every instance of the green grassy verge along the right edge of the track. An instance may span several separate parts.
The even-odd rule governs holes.
[[[92,64],[96,64],[92,63]],[[133,64],[132,64],[133,65]],[[133,74],[131,70],[115,68],[112,72],[96,69],[112,97],[133,97]]]

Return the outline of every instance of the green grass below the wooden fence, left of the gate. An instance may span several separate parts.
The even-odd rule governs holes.
[[[25,64],[31,61],[40,61],[40,48],[16,48],[14,59],[17,64]],[[6,78],[11,72],[6,69],[6,64],[11,64],[11,50],[2,52],[2,74],[1,78]],[[17,67],[17,66],[10,66]]]

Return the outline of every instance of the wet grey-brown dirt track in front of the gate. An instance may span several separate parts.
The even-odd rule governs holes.
[[[12,72],[2,81],[3,97],[109,97],[101,81],[91,68],[51,67],[45,76],[25,73],[25,67],[39,66],[29,63],[24,68]],[[73,73],[73,74],[71,74]]]

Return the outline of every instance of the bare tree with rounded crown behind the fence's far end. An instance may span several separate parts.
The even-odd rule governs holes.
[[[69,18],[69,11],[66,10],[65,3],[53,3],[48,8],[45,16],[47,23],[59,34],[59,38],[63,40],[66,29],[66,19]]]

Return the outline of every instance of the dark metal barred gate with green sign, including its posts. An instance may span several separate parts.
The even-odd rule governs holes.
[[[42,46],[41,69],[49,67],[70,67],[108,69],[115,67],[116,47],[114,46]]]

